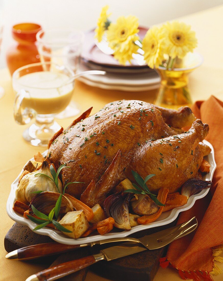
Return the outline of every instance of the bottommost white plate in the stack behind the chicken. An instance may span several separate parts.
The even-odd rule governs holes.
[[[138,87],[138,86],[125,86],[125,85],[106,85],[103,83],[90,81],[85,77],[79,77],[78,80],[91,87],[98,87],[101,89],[119,90],[119,91],[126,91],[126,92],[150,91],[150,90],[158,89],[160,87],[160,83]]]

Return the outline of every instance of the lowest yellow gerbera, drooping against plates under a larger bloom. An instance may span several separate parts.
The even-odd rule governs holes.
[[[114,58],[120,64],[126,65],[127,61],[131,63],[132,54],[136,54],[139,49],[139,46],[135,44],[135,41],[138,39],[138,35],[130,35],[124,42],[115,47]]]

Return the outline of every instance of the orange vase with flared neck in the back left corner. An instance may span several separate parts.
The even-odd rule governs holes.
[[[35,23],[20,23],[12,27],[12,37],[17,44],[11,46],[6,53],[8,69],[11,73],[21,66],[40,62],[36,42],[36,34],[42,28]]]

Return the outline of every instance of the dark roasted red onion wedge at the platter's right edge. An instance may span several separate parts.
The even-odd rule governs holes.
[[[188,199],[191,195],[198,193],[202,189],[207,189],[211,185],[211,181],[200,180],[198,178],[191,178],[182,185],[180,193],[181,195],[185,195]]]

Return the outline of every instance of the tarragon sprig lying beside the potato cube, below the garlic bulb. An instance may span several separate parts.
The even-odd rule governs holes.
[[[33,213],[38,217],[33,217],[30,215],[27,215],[27,217],[33,221],[34,223],[37,223],[38,225],[33,229],[33,231],[38,230],[40,228],[43,228],[44,226],[47,226],[49,223],[53,223],[54,226],[60,231],[63,232],[72,232],[68,230],[67,228],[63,227],[58,221],[54,219],[54,217],[57,219],[59,212],[60,212],[60,206],[62,201],[62,194],[58,197],[55,207],[50,211],[49,215],[45,215],[42,212],[38,211],[33,205],[31,205],[31,208],[33,210]]]

